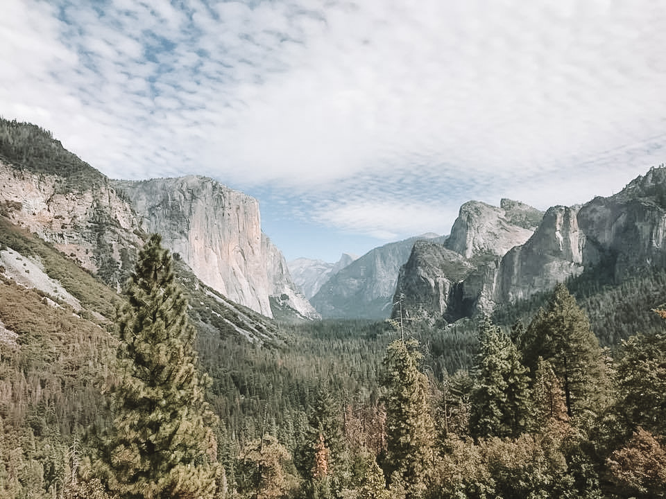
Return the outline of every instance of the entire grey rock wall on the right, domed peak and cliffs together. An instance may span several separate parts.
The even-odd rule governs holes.
[[[529,229],[536,218],[533,209],[504,200],[500,209],[463,205],[444,247],[414,246],[396,290],[404,310],[455,320],[527,299],[597,266],[617,280],[641,268],[666,268],[666,168],[652,168],[609,198],[548,209],[529,239],[507,250],[514,236],[526,234],[511,226]]]

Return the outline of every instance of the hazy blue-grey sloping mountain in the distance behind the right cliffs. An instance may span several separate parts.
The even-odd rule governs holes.
[[[421,238],[377,247],[334,274],[312,297],[325,318],[385,319],[391,313],[398,272]]]

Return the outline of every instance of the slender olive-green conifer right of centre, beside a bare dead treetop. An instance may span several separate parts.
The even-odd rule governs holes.
[[[389,344],[384,357],[384,471],[392,487],[404,487],[407,498],[423,496],[434,460],[434,422],[428,380],[418,370],[420,359],[416,340]]]

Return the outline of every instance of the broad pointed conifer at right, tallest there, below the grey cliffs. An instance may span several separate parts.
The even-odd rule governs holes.
[[[532,319],[518,347],[532,375],[547,360],[564,390],[567,414],[598,412],[606,403],[608,378],[599,341],[586,314],[564,284]]]

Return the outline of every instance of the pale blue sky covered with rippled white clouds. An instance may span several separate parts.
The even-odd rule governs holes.
[[[2,0],[0,116],[105,175],[259,200],[288,260],[666,162],[662,0]]]

